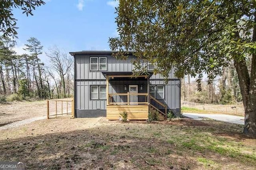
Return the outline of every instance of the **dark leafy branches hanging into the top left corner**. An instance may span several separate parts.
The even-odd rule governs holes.
[[[21,8],[22,13],[26,15],[33,15],[32,11],[36,7],[44,5],[45,2],[42,0],[1,0],[0,3],[0,32],[4,36],[16,37],[17,29],[16,19],[13,16],[13,8]]]

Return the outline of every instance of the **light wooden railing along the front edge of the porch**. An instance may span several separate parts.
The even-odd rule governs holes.
[[[110,93],[109,105],[148,105],[148,93]]]

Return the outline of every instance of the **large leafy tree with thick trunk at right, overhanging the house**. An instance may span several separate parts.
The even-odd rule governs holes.
[[[141,60],[157,62],[168,77],[204,73],[209,83],[234,62],[245,109],[244,133],[256,134],[256,1],[255,0],[119,0],[119,37],[110,38],[116,57],[134,50]],[[251,64],[246,64],[247,57]],[[251,67],[250,73],[248,67]]]

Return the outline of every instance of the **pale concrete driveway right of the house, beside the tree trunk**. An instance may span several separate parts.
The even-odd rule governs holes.
[[[241,117],[241,116],[233,116],[233,115],[226,115],[226,114],[204,114],[204,113],[182,113],[182,115],[186,117],[190,117],[192,119],[210,118],[210,119],[215,119],[217,121],[224,121],[224,122],[244,125],[244,117]]]

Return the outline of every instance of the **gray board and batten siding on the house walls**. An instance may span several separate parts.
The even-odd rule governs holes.
[[[116,59],[112,56],[113,51],[80,51],[70,52],[74,56],[74,98],[75,98],[75,116],[76,117],[100,117],[106,116],[106,99],[91,99],[90,87],[92,85],[106,85],[106,77],[103,72],[132,72],[134,66],[132,61],[136,59],[130,53],[128,59]],[[106,57],[106,71],[90,71],[90,57]],[[146,64],[146,63],[143,63]],[[159,74],[151,75],[150,85],[165,85],[163,77]],[[127,93],[124,91],[124,85],[136,85],[147,83],[147,81],[115,81],[109,80],[109,93]],[[180,79],[169,74],[169,82],[164,87],[164,99],[158,99],[167,105],[168,109],[174,114],[180,114]],[[138,93],[147,92],[147,85],[144,85],[142,91],[138,88]]]

